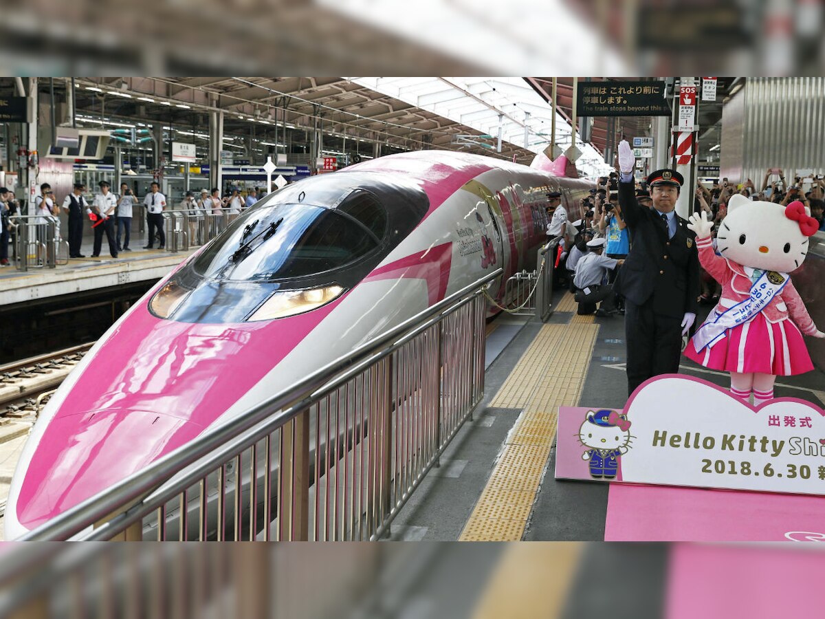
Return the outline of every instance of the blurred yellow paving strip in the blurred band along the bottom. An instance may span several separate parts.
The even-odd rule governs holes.
[[[581,549],[575,542],[508,545],[472,619],[561,617]]]

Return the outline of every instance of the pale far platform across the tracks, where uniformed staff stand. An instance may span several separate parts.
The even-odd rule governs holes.
[[[144,249],[145,244],[145,239],[133,239],[131,252],[121,252],[117,258],[111,258],[104,239],[100,257],[92,258],[89,240],[80,250],[86,258],[69,258],[68,264],[30,268],[25,272],[14,266],[3,267],[0,269],[0,309],[31,300],[155,281],[198,249],[172,253],[157,248]]]

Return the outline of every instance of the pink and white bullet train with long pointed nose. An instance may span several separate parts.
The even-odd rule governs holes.
[[[548,191],[592,183],[445,151],[295,182],[133,305],[46,404],[7,501],[21,536],[479,280],[535,268]]]

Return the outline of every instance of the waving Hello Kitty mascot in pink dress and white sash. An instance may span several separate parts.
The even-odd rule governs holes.
[[[799,201],[779,206],[735,195],[716,236],[719,256],[707,215],[690,220],[699,262],[722,285],[722,295],[685,355],[730,372],[731,393],[747,401],[753,391],[754,404],[762,404],[773,398],[776,376],[813,370],[802,334],[825,338],[788,275],[804,261],[817,220]]]

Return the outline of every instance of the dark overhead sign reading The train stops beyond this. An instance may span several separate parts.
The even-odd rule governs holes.
[[[579,82],[578,116],[670,116],[664,82]]]

